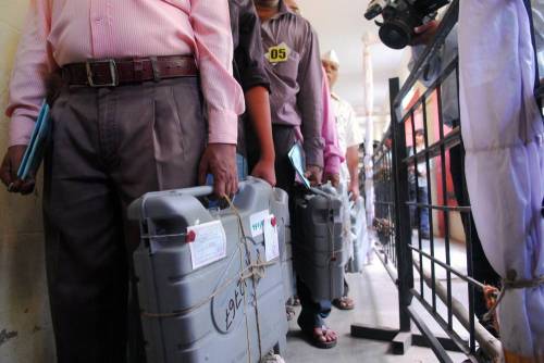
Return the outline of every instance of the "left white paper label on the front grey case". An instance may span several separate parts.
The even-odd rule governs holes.
[[[195,240],[189,242],[193,270],[209,265],[226,256],[226,235],[221,221],[202,223],[187,228]]]

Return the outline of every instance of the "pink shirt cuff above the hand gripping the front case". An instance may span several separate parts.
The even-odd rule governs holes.
[[[238,115],[230,110],[208,110],[208,143],[236,145]]]

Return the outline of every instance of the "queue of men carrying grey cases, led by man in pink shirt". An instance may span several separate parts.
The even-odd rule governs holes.
[[[11,192],[33,191],[35,175],[16,172],[47,98],[44,220],[59,362],[145,361],[132,263],[139,231],[126,218],[141,195],[212,180],[218,197],[232,196],[237,158],[293,195],[287,153],[301,142],[312,185],[342,183],[359,197],[362,135],[329,90],[338,61],[327,53],[322,64],[296,10],[287,0],[30,3],[0,177]],[[334,347],[331,302],[314,301],[300,279],[297,288],[300,328]]]

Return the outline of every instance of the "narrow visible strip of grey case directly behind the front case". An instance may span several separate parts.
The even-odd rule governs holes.
[[[280,188],[274,188],[270,206],[277,221],[280,239],[280,256],[282,260],[283,290],[285,301],[295,296],[295,278],[293,275],[293,243],[290,239],[289,197]]]

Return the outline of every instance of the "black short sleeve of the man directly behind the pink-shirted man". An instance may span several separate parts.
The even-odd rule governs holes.
[[[240,4],[238,24],[239,43],[235,49],[234,59],[240,74],[242,87],[244,91],[248,91],[256,86],[262,86],[270,91],[270,80],[264,71],[261,23],[251,0],[245,0]]]

